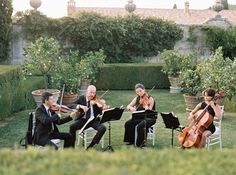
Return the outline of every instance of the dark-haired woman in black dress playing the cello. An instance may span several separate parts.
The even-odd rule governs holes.
[[[215,97],[215,90],[214,89],[206,89],[203,91],[204,96],[204,102],[199,103],[192,112],[190,112],[188,120],[192,121],[195,118],[195,114],[199,111],[204,109],[207,105],[209,107],[207,108],[207,112],[209,112],[210,116],[212,117],[212,122],[208,126],[208,128],[205,129],[205,131],[202,133],[202,137],[199,143],[199,148],[202,148],[206,144],[206,139],[210,135],[212,135],[215,132],[215,126],[213,124],[213,118],[216,116],[218,119],[221,119],[221,109],[220,106],[216,103],[214,103],[213,98]],[[204,117],[204,116],[203,116]]]

